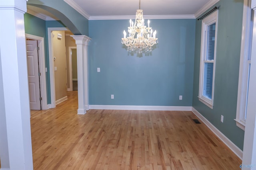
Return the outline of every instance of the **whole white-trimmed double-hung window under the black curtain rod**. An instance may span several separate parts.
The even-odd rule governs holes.
[[[199,100],[213,108],[218,10],[202,20]]]

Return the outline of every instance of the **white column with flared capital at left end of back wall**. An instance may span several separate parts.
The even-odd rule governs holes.
[[[89,109],[88,101],[88,42],[86,35],[70,35],[76,40],[78,114],[85,114]]]

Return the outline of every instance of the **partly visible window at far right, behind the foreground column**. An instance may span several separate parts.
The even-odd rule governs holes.
[[[236,119],[234,119],[236,121],[236,125],[243,130],[246,122],[248,85],[250,81],[250,51],[252,47],[253,10],[250,9],[250,6],[250,0],[244,0],[244,27],[242,29]]]

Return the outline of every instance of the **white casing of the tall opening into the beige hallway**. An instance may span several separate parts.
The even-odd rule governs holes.
[[[50,89],[51,89],[51,108],[56,107],[55,103],[55,82],[54,82],[54,60],[52,53],[52,31],[66,31],[66,27],[49,27],[48,29],[48,51],[49,51],[49,70],[50,71]]]

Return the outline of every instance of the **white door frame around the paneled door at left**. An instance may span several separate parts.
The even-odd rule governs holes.
[[[47,110],[50,108],[47,104],[47,91],[46,91],[46,68],[45,68],[45,55],[44,55],[44,37],[39,37],[36,35],[25,34],[26,38],[37,40],[38,42],[38,65],[39,65],[39,72],[41,73],[40,76],[40,94],[42,97],[41,100],[41,109]],[[28,66],[27,66],[28,67]]]

